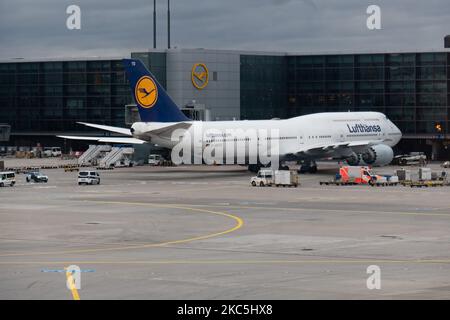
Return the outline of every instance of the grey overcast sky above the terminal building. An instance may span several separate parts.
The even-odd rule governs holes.
[[[66,28],[67,6],[81,30]],[[381,30],[366,9],[381,7]],[[158,48],[167,0],[157,0]],[[0,0],[0,58],[128,56],[153,45],[152,0]],[[172,47],[293,52],[442,50],[449,0],[171,0]]]

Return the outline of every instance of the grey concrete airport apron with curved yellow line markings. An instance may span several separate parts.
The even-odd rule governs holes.
[[[239,166],[19,174],[0,188],[0,299],[450,299],[449,187],[319,186],[337,165],[319,170],[298,188]]]

